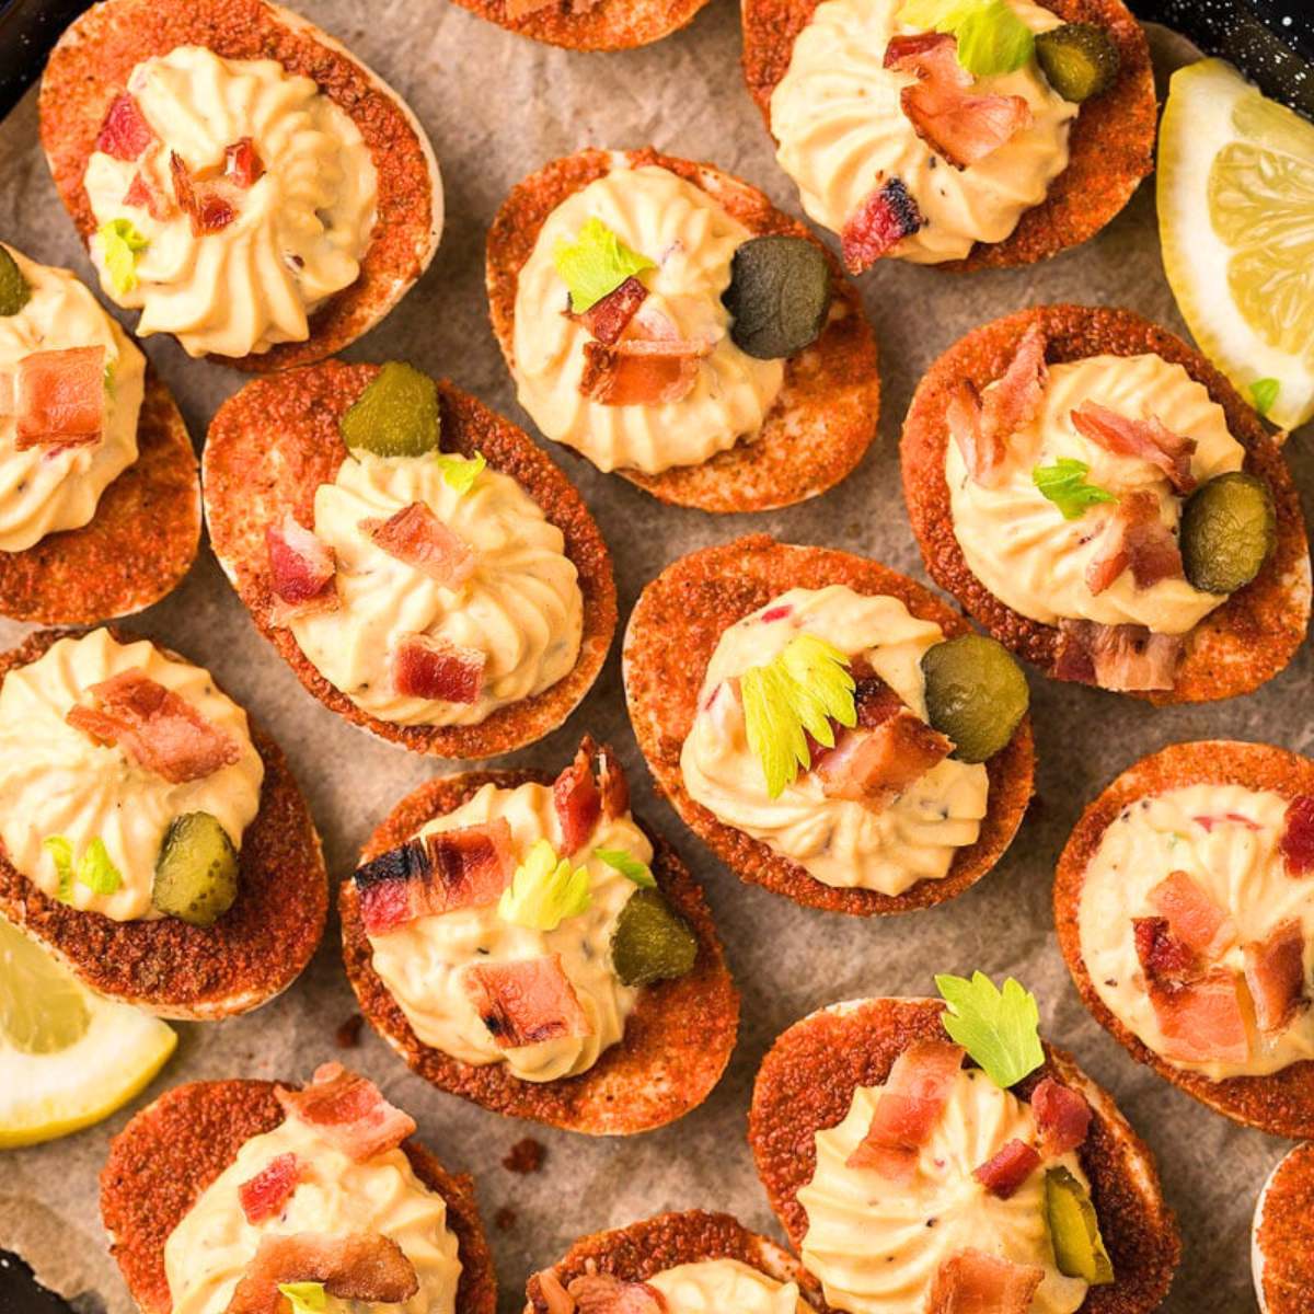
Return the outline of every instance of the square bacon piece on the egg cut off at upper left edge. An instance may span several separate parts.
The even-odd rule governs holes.
[[[105,348],[33,351],[13,376],[14,447],[85,447],[105,419]]]

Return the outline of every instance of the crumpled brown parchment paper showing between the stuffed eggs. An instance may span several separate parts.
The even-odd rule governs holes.
[[[798,213],[792,184],[774,163],[740,78],[738,16],[729,0],[714,0],[692,28],[646,50],[591,55],[512,37],[443,0],[301,0],[301,8],[410,101],[432,137],[445,180],[447,230],[432,268],[348,352],[352,359],[410,359],[533,432],[515,406],[487,327],[484,235],[518,179],[582,146],[654,143],[708,159]],[[1181,58],[1180,42],[1155,35],[1160,54]],[[0,125],[0,234],[93,281],[37,145],[34,95]],[[820,501],[759,516],[666,509],[553,447],[615,555],[623,618],[666,562],[754,530],[866,553],[925,579],[900,495],[897,435],[917,378],[941,351],[978,323],[1046,301],[1123,305],[1183,331],[1159,261],[1151,187],[1095,242],[1041,265],[963,277],[887,261],[866,276],[863,290],[880,340],[880,436],[861,468]],[[172,342],[150,339],[145,347],[200,445],[209,417],[242,377],[188,360]],[[1303,486],[1314,480],[1306,445],[1297,438],[1288,447]],[[131,624],[208,665],[275,732],[310,798],[335,880],[351,870],[359,845],[397,799],[453,769],[372,740],[304,692],[259,637],[205,548],[183,586]],[[4,624],[0,641],[8,645],[18,633]],[[660,1210],[727,1209],[778,1235],[745,1142],[753,1074],[773,1038],[834,1000],[932,992],[934,971],[982,968],[996,979],[1012,972],[1038,993],[1046,1034],[1074,1050],[1116,1095],[1159,1155],[1185,1235],[1183,1265],[1164,1309],[1252,1309],[1251,1209],[1284,1144],[1194,1104],[1133,1063],[1089,1018],[1054,941],[1050,883],[1081,805],[1142,754],[1176,740],[1223,736],[1311,752],[1311,665],[1306,645],[1285,674],[1254,696],[1162,711],[1033,675],[1038,796],[1004,862],[941,908],[867,921],[808,912],[740,884],[654,800],[625,716],[614,650],[568,725],[512,761],[556,769],[583,729],[606,737],[629,770],[636,811],[677,844],[704,880],[744,992],[744,1021],[731,1068],[702,1108],[657,1133],[593,1141],[536,1130],[431,1089],[368,1028],[359,1049],[335,1049],[334,1031],[355,1008],[336,921],[305,976],[281,999],[247,1017],[181,1026],[176,1056],[134,1106],[175,1083],[305,1077],[325,1059],[347,1059],[418,1118],[420,1135],[448,1167],[476,1175],[502,1284],[501,1309],[512,1311],[523,1306],[526,1276],[577,1235]],[[130,1112],[70,1139],[0,1156],[0,1246],[24,1254],[38,1276],[76,1296],[84,1310],[131,1309],[105,1255],[96,1189],[109,1138]],[[527,1134],[547,1146],[547,1162],[540,1173],[518,1176],[501,1160]],[[0,1309],[4,1303],[0,1290]]]

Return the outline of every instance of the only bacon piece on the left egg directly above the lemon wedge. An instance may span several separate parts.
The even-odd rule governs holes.
[[[64,720],[97,744],[117,745],[171,784],[204,779],[242,757],[235,738],[141,670],[122,670],[88,692],[93,706],[75,703]]]

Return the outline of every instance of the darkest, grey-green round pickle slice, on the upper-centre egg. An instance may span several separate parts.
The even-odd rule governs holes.
[[[830,309],[830,269],[804,238],[750,238],[731,261],[721,296],[731,338],[758,360],[779,360],[816,342]]]

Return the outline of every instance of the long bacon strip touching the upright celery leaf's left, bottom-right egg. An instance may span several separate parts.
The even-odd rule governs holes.
[[[850,1168],[874,1168],[896,1180],[916,1171],[917,1151],[930,1139],[963,1066],[949,1041],[915,1041],[890,1068],[871,1126],[849,1155]]]

